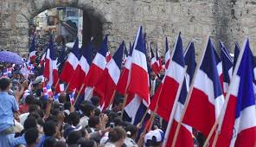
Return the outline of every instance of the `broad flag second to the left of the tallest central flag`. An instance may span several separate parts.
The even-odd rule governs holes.
[[[100,95],[100,105],[103,106],[103,110],[106,110],[111,105],[111,99],[118,84],[124,46],[125,42],[122,42],[116,53],[112,56],[112,60],[107,63],[97,84],[94,86],[94,91]]]

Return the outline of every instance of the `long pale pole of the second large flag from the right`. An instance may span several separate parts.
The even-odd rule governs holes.
[[[208,35],[208,38],[209,38],[209,35]],[[174,136],[174,139],[173,139],[173,142],[172,142],[172,147],[174,147],[173,144],[176,144],[176,139],[177,139],[177,137],[178,137],[178,133],[179,133],[179,131],[180,131],[180,128],[181,128],[181,125],[182,125],[182,121],[183,121],[183,118],[184,118],[184,116],[185,116],[185,112],[187,111],[187,108],[188,108],[188,105],[189,105],[189,100],[190,100],[190,97],[191,97],[191,94],[192,94],[192,89],[193,89],[194,82],[195,82],[195,76],[196,76],[196,74],[198,73],[198,70],[199,70],[199,68],[200,68],[200,66],[201,66],[201,64],[202,64],[202,59],[203,59],[203,56],[204,56],[204,54],[205,54],[205,52],[206,52],[207,45],[208,45],[208,42],[206,43],[206,47],[205,47],[204,50],[202,51],[202,54],[201,54],[201,57],[200,57],[200,59],[201,59],[201,60],[200,60],[200,64],[198,64],[198,65],[196,66],[196,68],[195,68],[195,74],[194,74],[194,76],[193,76],[193,79],[192,79],[192,81],[191,81],[191,85],[190,85],[190,87],[189,87],[189,93],[188,93],[188,95],[187,95],[187,97],[186,97],[186,101],[185,101],[185,104],[184,104],[182,116],[181,116],[181,119],[180,119],[180,121],[178,122],[178,125],[177,125],[177,127],[176,127],[176,132],[175,132],[175,136]]]

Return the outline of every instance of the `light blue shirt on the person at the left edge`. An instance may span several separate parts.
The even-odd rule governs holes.
[[[0,92],[0,131],[4,131],[14,125],[14,112],[19,107],[14,96],[7,92]]]

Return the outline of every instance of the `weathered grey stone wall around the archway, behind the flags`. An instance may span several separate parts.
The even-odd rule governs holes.
[[[184,47],[195,42],[197,54],[207,40],[218,40],[234,50],[234,42],[249,36],[256,46],[256,3],[253,0],[0,0],[0,48],[20,54],[28,52],[29,20],[55,7],[74,7],[91,18],[93,35],[109,34],[111,51],[125,40],[132,42],[139,25],[147,38],[164,50],[182,32]]]

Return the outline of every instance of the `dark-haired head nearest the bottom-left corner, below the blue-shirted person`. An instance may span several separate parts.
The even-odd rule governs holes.
[[[29,128],[24,137],[28,146],[35,146],[39,142],[39,132],[35,127]]]

